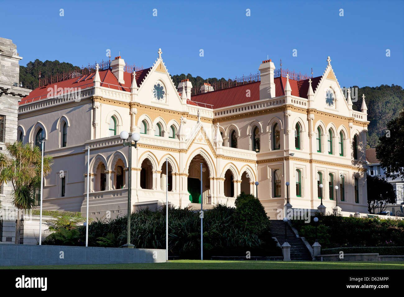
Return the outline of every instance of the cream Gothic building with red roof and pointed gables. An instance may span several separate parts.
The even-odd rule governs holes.
[[[240,192],[256,195],[259,181],[258,198],[274,218],[289,181],[293,207],[316,209],[322,196],[331,211],[329,189],[342,185],[342,210],[367,213],[366,104],[352,110],[330,59],[322,76],[305,80],[274,74],[274,63],[263,61],[255,81],[191,97],[191,82],[175,86],[161,53],[135,73],[116,57],[111,68],[53,82],[21,101],[19,137],[32,145],[44,138],[54,158],[44,209],[86,212],[87,162],[91,217],[126,213],[128,170],[132,210],[160,206],[168,159],[168,200],[181,208],[200,201],[202,163],[204,204],[234,205]],[[124,130],[141,135],[131,169]]]

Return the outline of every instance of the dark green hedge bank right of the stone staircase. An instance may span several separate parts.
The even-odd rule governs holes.
[[[323,249],[350,246],[404,246],[404,221],[379,218],[355,218],[335,215],[316,215],[318,242]],[[316,228],[310,223],[292,220],[299,236],[313,244]]]

